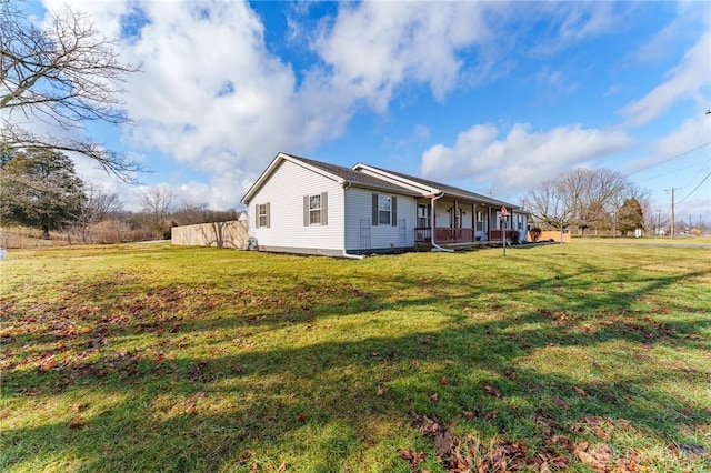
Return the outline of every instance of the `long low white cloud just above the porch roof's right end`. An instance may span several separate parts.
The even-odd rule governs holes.
[[[503,140],[499,134],[492,124],[477,124],[459,133],[452,147],[435,144],[422,154],[421,173],[445,181],[471,178],[508,192],[525,191],[560,172],[632,145],[623,131],[579,124],[531,132],[528,123],[517,123]]]

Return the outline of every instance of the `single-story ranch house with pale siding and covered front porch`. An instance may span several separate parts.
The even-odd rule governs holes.
[[[528,213],[508,202],[368,164],[344,168],[287,153],[277,154],[242,202],[250,236],[270,252],[348,258],[441,250],[501,241],[502,231],[523,240],[528,228]]]

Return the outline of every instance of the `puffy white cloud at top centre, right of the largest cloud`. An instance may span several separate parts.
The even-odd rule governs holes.
[[[424,83],[439,100],[462,68],[458,52],[489,39],[484,6],[477,2],[362,2],[341,4],[313,48],[330,81],[377,110],[402,83]]]

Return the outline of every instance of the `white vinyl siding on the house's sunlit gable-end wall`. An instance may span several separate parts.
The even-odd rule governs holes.
[[[320,195],[319,224],[304,225],[304,195]],[[252,215],[257,203],[270,203],[269,228],[256,228],[252,234],[260,246],[343,251],[343,188],[337,181],[283,161],[251,201]]]

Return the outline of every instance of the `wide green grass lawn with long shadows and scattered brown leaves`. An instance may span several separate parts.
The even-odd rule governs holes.
[[[0,263],[0,470],[711,471],[711,250]]]

